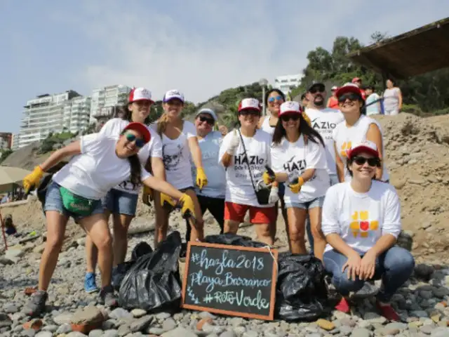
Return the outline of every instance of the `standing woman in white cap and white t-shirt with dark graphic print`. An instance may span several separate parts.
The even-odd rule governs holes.
[[[188,194],[194,201],[195,212],[194,221],[190,221],[192,232],[191,241],[202,240],[203,214],[201,206],[196,197],[194,181],[192,179],[192,158],[196,167],[196,185],[201,190],[207,185],[208,180],[204,173],[201,159],[201,148],[198,138],[196,138],[196,128],[190,121],[185,121],[181,117],[184,107],[184,95],[177,90],[167,91],[163,95],[163,115],[152,127],[156,130],[162,140],[163,164],[166,169],[166,180]],[[192,156],[192,157],[190,157]],[[161,201],[155,203],[156,214],[159,221],[156,222],[156,241],[161,242],[166,239],[168,230],[168,217],[170,216],[172,204],[170,197],[165,194],[160,195]],[[166,208],[164,205],[167,205]]]

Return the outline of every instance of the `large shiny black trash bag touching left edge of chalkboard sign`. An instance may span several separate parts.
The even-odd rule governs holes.
[[[180,250],[180,233],[173,232],[152,253],[140,256],[121,282],[120,306],[152,313],[179,311],[182,295],[178,265]]]

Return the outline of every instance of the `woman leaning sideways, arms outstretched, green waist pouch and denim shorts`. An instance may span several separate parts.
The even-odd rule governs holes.
[[[62,159],[74,156],[53,176],[47,188],[44,211],[47,220],[46,246],[39,267],[39,286],[25,305],[26,315],[39,315],[45,310],[47,289],[58,263],[64,242],[65,227],[69,217],[74,218],[91,237],[98,248],[98,265],[101,270],[100,303],[117,304],[111,285],[112,238],[103,214],[102,198],[112,187],[130,178],[133,185],[143,183],[148,187],[179,199],[183,212],[193,211],[192,199],[172,185],[151,176],[138,158],[139,150],[149,143],[151,135],[147,126],[130,123],[119,139],[99,133],[82,136],[80,140],[62,147],[23,180],[25,191],[39,184],[43,173]]]

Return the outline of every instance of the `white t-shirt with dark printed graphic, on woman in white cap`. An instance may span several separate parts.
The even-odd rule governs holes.
[[[156,131],[157,124],[150,125]],[[163,165],[166,168],[166,180],[177,190],[194,187],[192,166],[190,164],[189,138],[196,137],[196,128],[190,121],[184,121],[182,132],[176,139],[162,134]]]

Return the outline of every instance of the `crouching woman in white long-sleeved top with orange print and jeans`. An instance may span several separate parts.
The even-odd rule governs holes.
[[[415,260],[395,246],[401,232],[401,204],[394,187],[375,180],[380,166],[377,146],[366,140],[347,151],[352,179],[330,187],[323,204],[321,228],[326,235],[324,265],[343,298],[336,309],[349,312],[347,296],[366,281],[382,279],[377,308],[398,320],[389,305],[391,296],[412,275]]]

